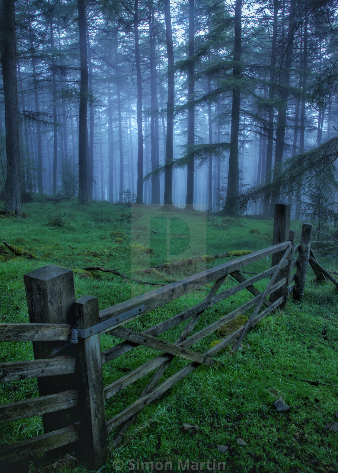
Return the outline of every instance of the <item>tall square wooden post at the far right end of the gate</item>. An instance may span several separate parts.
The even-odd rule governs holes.
[[[290,230],[290,208],[291,204],[285,202],[278,202],[275,204],[275,213],[273,220],[273,237],[272,245],[278,245],[287,241]],[[284,251],[272,255],[271,266],[279,263],[283,257]],[[282,269],[277,278],[278,280],[284,277],[284,269]],[[275,302],[282,295],[282,288],[270,294],[270,302]]]

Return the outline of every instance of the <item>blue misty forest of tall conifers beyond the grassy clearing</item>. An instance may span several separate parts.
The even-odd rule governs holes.
[[[337,0],[2,1],[0,195],[337,219]]]

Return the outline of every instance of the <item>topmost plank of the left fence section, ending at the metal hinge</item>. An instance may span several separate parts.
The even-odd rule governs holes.
[[[48,342],[67,340],[68,324],[0,324],[0,342]]]

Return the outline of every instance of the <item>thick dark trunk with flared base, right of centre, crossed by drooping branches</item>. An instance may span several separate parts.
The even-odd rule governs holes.
[[[241,41],[242,41],[242,0],[236,0],[234,16],[234,79],[241,79]],[[234,215],[238,210],[238,136],[240,119],[240,86],[233,87],[233,104],[231,109],[231,133],[229,149],[229,172],[223,214]]]

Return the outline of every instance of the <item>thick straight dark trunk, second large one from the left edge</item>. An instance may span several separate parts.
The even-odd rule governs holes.
[[[88,62],[86,7],[84,0],[78,0],[78,31],[80,40],[80,104],[78,111],[78,203],[88,203],[87,190],[87,100]]]

